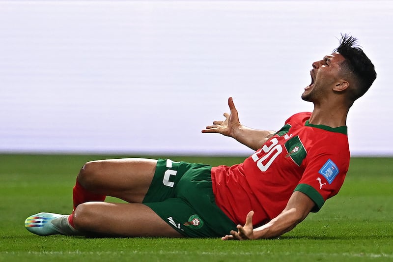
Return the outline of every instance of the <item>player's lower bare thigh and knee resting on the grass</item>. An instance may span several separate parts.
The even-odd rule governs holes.
[[[183,236],[144,204],[80,204],[74,212],[74,224],[80,231],[102,236]]]

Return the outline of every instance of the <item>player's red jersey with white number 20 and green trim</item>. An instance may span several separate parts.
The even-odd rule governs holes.
[[[242,164],[212,168],[216,204],[236,224],[266,224],[285,208],[294,191],[315,202],[317,212],[338,193],[349,167],[347,127],[309,123],[298,113]]]

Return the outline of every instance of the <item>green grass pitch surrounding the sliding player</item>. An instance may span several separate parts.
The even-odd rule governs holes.
[[[79,168],[114,156],[0,155],[0,261],[393,261],[393,158],[353,158],[340,193],[274,240],[39,237],[39,211],[68,213]],[[170,157],[230,165],[242,157]],[[113,201],[114,199],[110,199]]]

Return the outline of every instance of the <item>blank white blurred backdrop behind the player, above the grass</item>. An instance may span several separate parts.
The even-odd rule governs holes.
[[[0,0],[0,152],[247,155],[202,134],[232,96],[278,130],[311,63],[351,33],[377,80],[348,117],[354,156],[393,156],[392,1]]]

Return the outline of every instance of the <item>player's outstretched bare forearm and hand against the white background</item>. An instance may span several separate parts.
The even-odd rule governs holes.
[[[239,121],[239,116],[233,103],[232,97],[228,99],[230,114],[224,113],[225,120],[213,121],[213,125],[206,126],[202,133],[219,133],[224,136],[232,137],[238,142],[246,145],[253,150],[258,150],[275,131],[258,130],[244,126]]]

